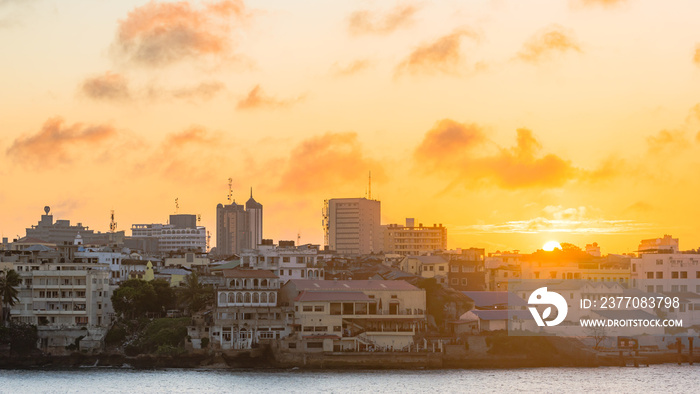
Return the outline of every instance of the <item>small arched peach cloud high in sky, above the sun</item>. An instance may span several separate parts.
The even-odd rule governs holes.
[[[529,63],[538,63],[568,51],[583,52],[571,32],[561,26],[553,25],[530,37],[523,44],[516,58]]]

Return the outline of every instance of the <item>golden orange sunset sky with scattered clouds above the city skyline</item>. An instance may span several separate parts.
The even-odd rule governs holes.
[[[700,3],[0,0],[0,232],[107,231],[253,188],[264,238],[324,199],[449,248],[700,246]]]

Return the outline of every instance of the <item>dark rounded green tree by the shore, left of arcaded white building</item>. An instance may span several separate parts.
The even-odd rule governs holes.
[[[174,304],[175,292],[162,279],[150,282],[129,279],[112,294],[115,312],[131,318],[144,317],[148,313],[164,313]]]

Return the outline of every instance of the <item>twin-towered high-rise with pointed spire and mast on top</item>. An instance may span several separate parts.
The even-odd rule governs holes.
[[[240,254],[255,249],[262,242],[263,206],[253,198],[245,203],[216,206],[216,250],[220,256]]]

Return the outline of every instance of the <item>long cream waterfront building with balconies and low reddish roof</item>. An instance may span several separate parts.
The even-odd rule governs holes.
[[[299,351],[408,350],[426,325],[425,290],[401,280],[293,279],[280,289],[294,307]]]

